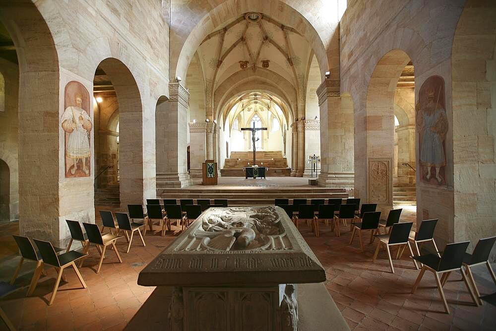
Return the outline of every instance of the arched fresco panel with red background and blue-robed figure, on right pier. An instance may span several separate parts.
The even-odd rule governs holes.
[[[435,186],[446,186],[446,116],[444,79],[431,76],[422,84],[415,105],[419,132],[420,180]]]

